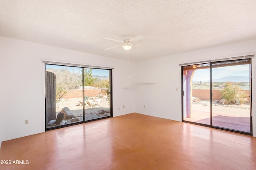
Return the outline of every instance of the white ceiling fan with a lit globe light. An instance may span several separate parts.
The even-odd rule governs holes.
[[[137,37],[133,38],[131,35],[124,35],[121,37],[121,40],[112,39],[112,38],[105,38],[105,39],[123,43],[122,45],[116,45],[114,47],[110,47],[105,50],[113,49],[113,48],[116,48],[119,46],[122,46],[125,50],[130,50],[132,48],[132,45],[134,45],[134,42],[140,41],[140,40],[144,39],[144,37],[142,35],[138,35]]]

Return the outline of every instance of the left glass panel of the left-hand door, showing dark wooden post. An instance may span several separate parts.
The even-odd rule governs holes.
[[[84,121],[82,68],[46,64],[46,128]]]

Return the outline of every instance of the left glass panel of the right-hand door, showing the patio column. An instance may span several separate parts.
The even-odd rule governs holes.
[[[210,125],[210,64],[183,67],[183,119]]]

